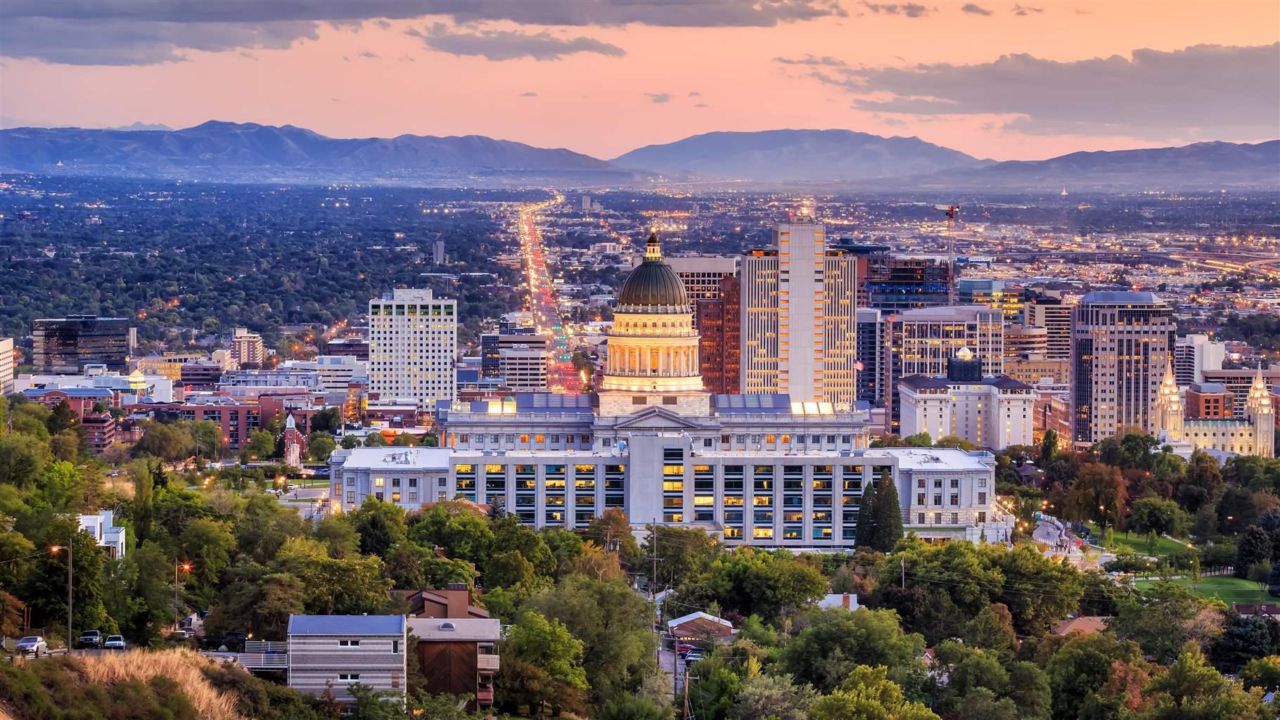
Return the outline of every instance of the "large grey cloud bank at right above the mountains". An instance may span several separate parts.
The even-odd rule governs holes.
[[[1257,139],[1275,137],[1280,118],[1280,42],[1140,49],[1132,58],[1070,63],[1014,54],[974,65],[810,74],[849,91],[861,110],[1012,115],[1006,128],[1027,134]]]

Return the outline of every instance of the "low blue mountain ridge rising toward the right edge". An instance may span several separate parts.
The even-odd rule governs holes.
[[[1050,160],[1011,160],[916,178],[923,185],[973,189],[1280,188],[1280,141],[1198,142],[1183,147],[1073,152]]]

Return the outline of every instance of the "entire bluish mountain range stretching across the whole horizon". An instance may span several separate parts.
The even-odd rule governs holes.
[[[1204,142],[996,162],[915,137],[782,129],[707,133],[605,161],[483,136],[330,138],[294,125],[210,120],[180,130],[3,129],[0,169],[237,182],[543,179],[645,185],[655,180],[724,180],[892,191],[1280,188],[1280,141]]]

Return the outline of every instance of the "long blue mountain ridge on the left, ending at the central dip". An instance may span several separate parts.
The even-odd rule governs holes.
[[[182,130],[0,130],[0,168],[225,179],[622,175],[568,150],[481,136],[339,139],[293,125],[216,120]]]

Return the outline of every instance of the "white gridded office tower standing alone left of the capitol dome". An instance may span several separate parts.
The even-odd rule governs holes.
[[[398,289],[369,301],[369,390],[383,400],[412,398],[422,411],[453,400],[457,301]]]

